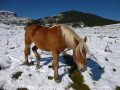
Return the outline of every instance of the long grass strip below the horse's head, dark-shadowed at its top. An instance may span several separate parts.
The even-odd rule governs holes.
[[[77,65],[73,61],[73,57],[70,55],[64,55],[65,63],[70,65],[69,68],[69,77],[72,79],[71,87],[75,90],[90,90],[89,87],[84,83],[84,77],[81,75],[80,71],[77,69]]]

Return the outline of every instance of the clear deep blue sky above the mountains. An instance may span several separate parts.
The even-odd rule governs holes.
[[[120,21],[120,0],[0,0],[0,10],[33,19],[76,10]]]

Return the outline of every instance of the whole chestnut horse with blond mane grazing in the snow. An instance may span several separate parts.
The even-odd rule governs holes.
[[[65,49],[73,49],[73,57],[76,60],[78,69],[83,72],[87,69],[86,54],[88,47],[86,45],[87,37],[81,39],[71,28],[65,25],[57,25],[54,27],[43,27],[37,24],[29,26],[25,32],[25,65],[28,65],[28,55],[30,54],[30,45],[34,42],[32,48],[37,61],[37,68],[40,67],[40,56],[37,49],[52,51],[54,69],[54,80],[60,82],[58,75],[58,57]]]

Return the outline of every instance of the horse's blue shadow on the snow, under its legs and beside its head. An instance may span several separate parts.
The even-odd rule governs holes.
[[[43,66],[44,65],[50,66],[52,64],[51,63],[52,60],[53,60],[53,57],[47,57],[47,58],[41,58],[40,61],[43,62]],[[69,65],[66,64],[65,59],[63,58],[63,55],[59,56],[59,61],[64,64],[64,65],[59,65],[59,68],[61,68],[61,67],[66,68],[67,66],[69,66]],[[95,80],[95,81],[98,81],[101,78],[102,74],[104,73],[104,68],[105,67],[101,67],[99,65],[99,63],[95,60],[87,59],[87,67],[90,68],[89,74],[91,75],[92,79]],[[62,78],[66,74],[69,74],[69,72],[65,71],[63,74],[60,75],[60,77]]]

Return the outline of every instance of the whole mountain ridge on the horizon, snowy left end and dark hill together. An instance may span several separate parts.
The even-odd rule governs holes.
[[[16,24],[16,25],[27,25],[39,24],[42,26],[54,26],[57,24],[65,24],[72,27],[93,27],[93,26],[104,26],[109,24],[117,24],[120,21],[105,19],[98,15],[83,13],[80,11],[66,11],[61,12],[58,15],[48,16],[33,20],[31,18],[20,18],[16,13],[11,11],[0,10],[0,23],[4,24]]]

